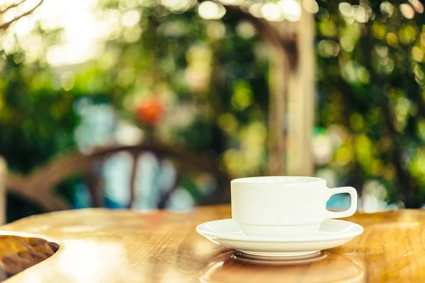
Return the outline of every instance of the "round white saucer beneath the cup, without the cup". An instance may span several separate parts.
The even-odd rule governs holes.
[[[212,243],[249,255],[288,257],[341,246],[363,233],[363,227],[348,221],[327,219],[313,236],[257,237],[245,236],[233,219],[222,219],[200,224],[196,231]]]

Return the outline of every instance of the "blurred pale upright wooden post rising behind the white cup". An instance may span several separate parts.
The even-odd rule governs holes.
[[[314,17],[272,24],[280,45],[272,47],[269,173],[313,175],[310,136],[314,127]]]

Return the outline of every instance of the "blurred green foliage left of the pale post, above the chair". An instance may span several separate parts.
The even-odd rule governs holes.
[[[0,34],[0,155],[11,171],[28,173],[76,147],[127,141],[121,124],[146,135],[152,129],[137,119],[137,107],[155,97],[165,117],[149,134],[169,146],[220,156],[217,163],[234,175],[263,173],[268,54],[252,25],[133,2],[99,1],[77,11],[81,23],[52,16],[53,24],[46,24],[36,11],[30,24],[20,20]],[[40,10],[49,11],[48,5]],[[97,29],[88,31],[85,17]],[[32,28],[22,35],[26,24]],[[60,52],[83,40],[92,40],[81,45],[86,50],[72,45]],[[79,59],[85,54],[91,57]],[[84,105],[111,105],[114,112],[81,110]],[[111,132],[102,132],[98,120],[112,120]],[[200,195],[191,183],[185,181],[191,195]],[[67,185],[75,182],[58,190],[72,202]]]

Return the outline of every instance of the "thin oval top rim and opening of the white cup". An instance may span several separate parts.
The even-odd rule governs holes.
[[[288,179],[294,179],[294,181],[288,183]],[[230,183],[239,183],[244,185],[305,185],[323,182],[326,182],[323,178],[310,176],[258,176],[236,178]]]

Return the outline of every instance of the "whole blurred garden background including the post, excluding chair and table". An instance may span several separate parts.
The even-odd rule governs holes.
[[[229,178],[352,185],[365,212],[425,203],[419,0],[27,0],[0,11],[0,156],[12,175],[69,152],[161,144]],[[176,168],[123,151],[98,175],[102,206],[155,209]],[[178,180],[161,207],[220,190],[205,173]],[[91,206],[79,173],[53,190]],[[8,192],[8,221],[43,211]]]

